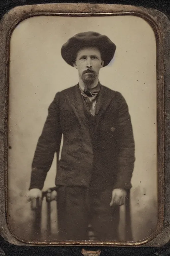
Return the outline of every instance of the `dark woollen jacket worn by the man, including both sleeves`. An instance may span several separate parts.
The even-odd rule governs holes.
[[[134,139],[125,99],[101,85],[92,118],[93,126],[89,125],[78,85],[55,95],[35,151],[30,189],[42,189],[62,134],[56,185],[88,187],[93,177],[100,186],[131,187]]]

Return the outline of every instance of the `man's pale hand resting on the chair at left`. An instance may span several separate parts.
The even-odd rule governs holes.
[[[32,188],[28,191],[28,201],[31,201],[31,209],[35,210],[41,206],[42,191],[39,188]]]

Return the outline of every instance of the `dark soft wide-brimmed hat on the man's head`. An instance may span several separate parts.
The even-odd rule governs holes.
[[[101,53],[104,66],[109,64],[116,50],[116,45],[109,37],[88,31],[76,34],[68,39],[61,48],[61,56],[69,65],[73,66],[77,52],[85,47],[96,47]]]

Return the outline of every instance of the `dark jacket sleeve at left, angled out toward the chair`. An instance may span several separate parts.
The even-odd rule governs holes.
[[[48,116],[38,140],[32,163],[30,188],[43,188],[46,174],[49,171],[55,151],[59,151],[61,143],[61,128],[59,122],[59,93],[48,108]]]

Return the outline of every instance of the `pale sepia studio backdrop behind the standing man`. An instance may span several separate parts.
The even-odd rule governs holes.
[[[77,70],[64,62],[60,49],[74,34],[89,30],[107,35],[117,46],[114,59],[101,69],[99,78],[101,84],[123,94],[131,115],[136,157],[131,189],[133,239],[144,239],[156,228],[156,42],[152,28],[136,16],[37,16],[15,28],[10,44],[8,210],[10,228],[22,239],[30,239],[32,229],[34,213],[26,195],[47,108],[57,91],[78,82]],[[55,161],[44,189],[54,186]],[[43,234],[45,209],[43,203]]]

